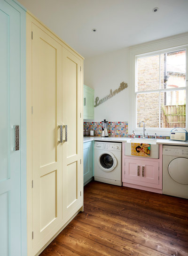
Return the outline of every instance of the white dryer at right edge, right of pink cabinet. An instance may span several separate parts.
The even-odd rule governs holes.
[[[163,194],[188,198],[188,146],[163,146]]]

